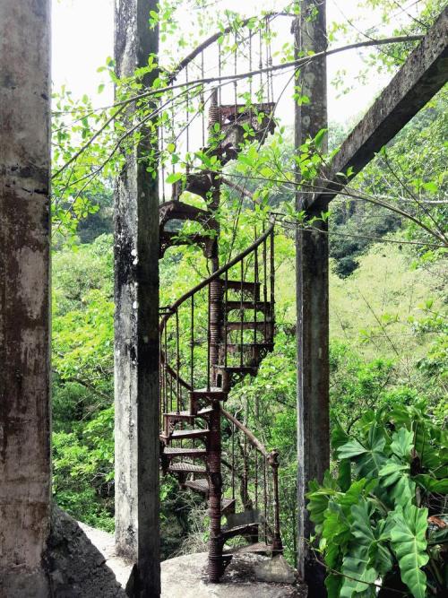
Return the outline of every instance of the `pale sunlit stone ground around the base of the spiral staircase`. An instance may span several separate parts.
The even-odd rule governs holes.
[[[115,573],[117,581],[125,587],[132,565],[116,557],[113,536],[85,524],[80,526],[103,555],[105,564]],[[165,560],[161,564],[161,598],[306,598],[305,585],[257,581],[255,568],[268,560],[259,555],[236,556],[220,584],[207,583],[206,552]],[[101,594],[96,596],[100,598]]]

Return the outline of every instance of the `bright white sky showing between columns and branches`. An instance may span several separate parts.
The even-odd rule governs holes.
[[[248,14],[256,13],[261,6],[283,5],[280,2],[267,2],[263,0],[244,0],[245,11]],[[240,9],[241,0],[221,0],[223,8]],[[355,17],[356,22],[362,19],[360,28],[367,27],[378,22],[378,15],[370,12],[360,13],[358,0],[328,0],[328,19],[331,23],[334,20],[343,19],[340,7],[343,7],[344,15],[350,18]],[[252,9],[252,11],[251,11]],[[186,19],[192,18],[188,13]],[[185,27],[194,27],[193,24],[185,23]],[[112,86],[104,79],[104,74],[97,73],[99,65],[104,65],[107,56],[113,56],[114,36],[114,0],[53,0],[53,82],[56,90],[65,83],[73,91],[74,96],[82,96],[87,93],[93,98],[96,105],[108,104],[112,99]],[[384,30],[384,34],[388,31]],[[210,34],[210,33],[209,33]],[[187,53],[176,48],[179,57]],[[373,73],[369,77],[369,84],[362,85],[356,81],[359,68],[362,65],[356,51],[343,53],[339,56],[329,58],[329,80],[331,81],[336,71],[346,69],[348,81],[356,83],[356,89],[340,98],[338,92],[329,86],[329,117],[331,122],[345,122],[353,120],[360,113],[364,112],[370,105],[375,95],[388,82],[390,75],[378,75]],[[100,82],[107,82],[105,91],[100,96],[97,94]],[[288,117],[287,117],[288,120]],[[288,124],[288,123],[287,123]]]

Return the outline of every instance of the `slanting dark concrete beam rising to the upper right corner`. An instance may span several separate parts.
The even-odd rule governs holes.
[[[328,179],[325,193],[317,193],[306,207],[314,212],[326,211],[329,202],[338,195],[345,178],[337,176],[353,167],[358,173],[375,157],[383,145],[431,100],[448,80],[448,7],[444,8],[400,71],[383,90],[366,116],[352,130],[324,173]],[[330,192],[330,193],[329,193]]]

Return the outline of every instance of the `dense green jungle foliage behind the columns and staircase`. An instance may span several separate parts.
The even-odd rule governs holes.
[[[439,4],[427,4],[422,18],[430,20],[431,5],[435,13]],[[375,65],[388,68],[396,59],[380,55]],[[442,595],[448,586],[446,249],[400,212],[404,206],[444,236],[447,93],[440,91],[350,181],[351,195],[340,195],[328,216],[332,467],[308,496],[314,550],[330,572],[331,596],[375,596],[378,579],[422,598]],[[330,126],[330,151],[343,138],[340,128]],[[290,169],[291,138],[291,131],[278,129],[256,156],[249,147],[246,161],[230,171],[244,176],[274,161]],[[319,149],[318,140],[314,145]],[[302,149],[302,158],[311,147]],[[58,221],[53,256],[54,494],[68,513],[108,532],[114,529],[112,179],[111,170],[90,188],[69,225]],[[269,212],[283,213],[276,226],[275,347],[258,376],[232,390],[226,408],[245,412],[247,426],[280,452],[282,535],[294,563],[297,214],[290,188],[256,181],[248,188],[269,199],[254,212],[251,202],[239,204],[235,189],[225,187],[221,259],[247,247],[254,224]],[[384,198],[399,210],[381,205]],[[56,215],[64,210],[60,202]],[[171,249],[160,261],[160,304],[169,305],[206,275],[199,249]],[[169,476],[160,498],[162,557],[202,550],[203,502],[179,492]]]

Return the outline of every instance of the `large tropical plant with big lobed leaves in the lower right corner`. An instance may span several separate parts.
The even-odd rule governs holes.
[[[424,404],[334,429],[337,477],[307,495],[330,598],[446,595],[447,440]]]

